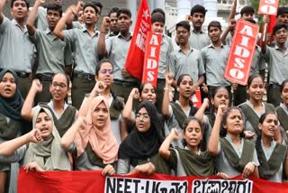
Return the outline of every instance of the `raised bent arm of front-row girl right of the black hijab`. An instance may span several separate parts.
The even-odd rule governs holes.
[[[159,154],[162,158],[168,160],[170,158],[171,152],[169,151],[169,147],[171,142],[179,139],[179,133],[177,130],[172,129],[171,133],[166,137],[165,141],[161,144],[159,148]]]

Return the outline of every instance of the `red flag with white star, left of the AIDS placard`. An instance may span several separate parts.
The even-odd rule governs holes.
[[[147,0],[141,0],[125,68],[141,80],[147,33],[151,31],[151,17]]]

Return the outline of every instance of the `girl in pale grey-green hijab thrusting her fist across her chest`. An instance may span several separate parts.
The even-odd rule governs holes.
[[[61,148],[60,136],[49,110],[43,107],[37,110],[32,124],[33,130],[30,133],[0,144],[0,161],[17,162],[24,157],[27,171],[71,170],[67,153]],[[26,143],[29,145],[24,145]],[[10,190],[14,192],[17,178],[10,180],[12,182]]]

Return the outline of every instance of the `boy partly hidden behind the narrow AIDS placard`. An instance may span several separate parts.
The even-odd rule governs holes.
[[[162,110],[162,103],[160,101],[164,95],[165,87],[165,75],[167,68],[167,59],[169,58],[170,53],[174,50],[173,43],[170,37],[164,34],[164,25],[165,25],[165,15],[160,12],[151,14],[151,23],[152,23],[152,32],[161,33],[162,41],[160,47],[160,56],[158,62],[158,73],[157,73],[157,110],[160,112]]]

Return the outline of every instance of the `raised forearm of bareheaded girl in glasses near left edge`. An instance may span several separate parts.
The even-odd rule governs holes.
[[[42,85],[40,83],[39,79],[33,79],[31,88],[29,90],[29,93],[24,101],[22,110],[21,110],[21,115],[23,116],[24,119],[31,121],[33,118],[33,110],[32,106],[34,103],[34,97],[36,96],[37,93],[40,93],[42,91]]]

